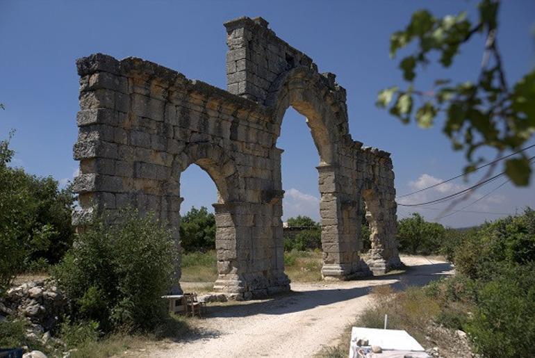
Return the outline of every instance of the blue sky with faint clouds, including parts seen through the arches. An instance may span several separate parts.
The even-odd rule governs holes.
[[[402,29],[411,13],[428,8],[436,15],[470,10],[475,1],[6,1],[0,0],[0,138],[16,129],[13,165],[62,183],[72,179],[76,141],[78,76],[75,60],[95,52],[116,58],[137,56],[226,88],[222,23],[247,15],[262,16],[270,27],[297,49],[311,56],[320,71],[334,72],[347,89],[349,127],[355,140],[392,153],[397,193],[404,194],[463,168],[463,156],[450,149],[434,129],[404,126],[375,107],[381,88],[402,83],[397,61],[388,57],[390,33]],[[500,37],[509,82],[535,65],[534,1],[503,1]],[[436,78],[474,80],[484,40],[462,49],[450,70],[429,66],[418,85]],[[532,140],[533,143],[533,140]],[[283,154],[284,218],[302,213],[318,219],[318,153],[304,117],[289,109],[278,146]],[[535,155],[535,150],[530,151]],[[491,155],[493,155],[491,153]],[[499,169],[501,170],[501,168]],[[471,178],[472,182],[477,176]],[[183,174],[183,209],[215,202],[215,185],[194,166]],[[477,195],[491,190],[492,184]],[[467,186],[462,180],[440,190],[405,199],[419,202]],[[472,197],[476,199],[478,196]],[[469,201],[470,202],[470,201]],[[461,206],[469,202],[461,204]],[[470,211],[515,213],[535,206],[535,190],[507,184]],[[440,207],[440,206],[436,206]],[[401,216],[412,210],[399,209]],[[433,220],[437,211],[420,211]],[[500,215],[458,213],[445,225],[475,225]]]

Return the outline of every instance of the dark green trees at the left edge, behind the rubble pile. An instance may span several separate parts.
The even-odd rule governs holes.
[[[11,168],[9,139],[0,141],[0,288],[23,270],[58,262],[74,238],[72,191]]]

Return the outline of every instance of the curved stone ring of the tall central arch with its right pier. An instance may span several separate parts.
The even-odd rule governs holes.
[[[277,138],[288,107],[306,117],[306,124],[318,154],[318,184],[322,224],[322,276],[349,279],[365,275],[359,258],[360,225],[352,193],[338,185],[340,173],[338,147],[349,135],[347,112],[340,103],[345,90],[336,86],[334,74],[319,74],[310,67],[299,66],[280,74],[268,90],[265,104],[274,110]]]

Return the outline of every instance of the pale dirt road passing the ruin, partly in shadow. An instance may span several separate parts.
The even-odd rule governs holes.
[[[292,284],[293,293],[272,300],[208,307],[199,332],[148,349],[150,357],[311,357],[334,341],[368,304],[372,286],[424,285],[451,273],[444,261],[402,257],[408,272],[331,284]],[[145,354],[144,353],[144,354]]]

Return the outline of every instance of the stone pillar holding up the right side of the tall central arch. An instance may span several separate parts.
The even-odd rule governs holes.
[[[334,165],[320,165],[320,214],[322,217],[322,250],[324,279],[352,279],[363,275],[360,270],[358,207],[343,202]]]

